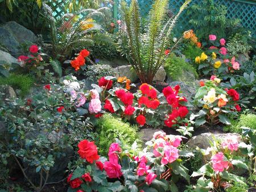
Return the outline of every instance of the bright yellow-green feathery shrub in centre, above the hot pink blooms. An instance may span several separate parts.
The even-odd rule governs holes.
[[[108,154],[109,146],[116,141],[115,139],[121,141],[126,149],[130,149],[134,141],[139,141],[138,127],[122,122],[121,118],[117,118],[112,114],[104,114],[98,121],[97,128],[98,140],[96,144],[102,156]]]

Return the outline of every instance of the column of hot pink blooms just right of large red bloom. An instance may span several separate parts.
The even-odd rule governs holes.
[[[120,178],[123,175],[121,165],[118,164],[118,153],[121,151],[118,143],[112,143],[109,147],[109,161],[104,162],[104,169],[109,178]]]

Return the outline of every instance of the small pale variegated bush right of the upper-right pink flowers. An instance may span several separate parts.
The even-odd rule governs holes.
[[[229,37],[228,43],[226,44],[228,52],[234,56],[240,53],[249,52],[252,49],[252,47],[248,43],[248,36],[250,36],[250,33],[247,35],[242,35],[238,33]]]

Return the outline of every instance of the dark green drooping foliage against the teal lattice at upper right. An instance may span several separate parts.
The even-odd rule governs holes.
[[[195,28],[196,35],[202,41],[208,41],[210,34],[218,37],[226,37],[226,27],[234,27],[240,22],[239,19],[226,18],[227,7],[218,5],[213,0],[200,1],[189,7],[189,23]]]

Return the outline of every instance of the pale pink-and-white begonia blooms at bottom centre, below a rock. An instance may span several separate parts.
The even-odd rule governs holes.
[[[168,163],[174,162],[179,158],[179,147],[181,142],[180,136],[166,136],[166,133],[158,131],[154,133],[154,156],[162,157],[161,164],[166,165]]]

